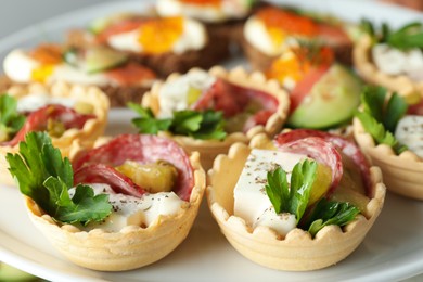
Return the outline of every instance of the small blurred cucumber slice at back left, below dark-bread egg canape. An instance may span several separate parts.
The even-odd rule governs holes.
[[[128,56],[106,47],[88,49],[85,56],[85,68],[88,74],[94,74],[125,64]]]

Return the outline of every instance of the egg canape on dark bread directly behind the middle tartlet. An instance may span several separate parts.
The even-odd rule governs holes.
[[[105,16],[93,23],[88,30],[69,31],[68,44],[107,46],[161,77],[185,73],[194,66],[208,68],[229,55],[228,40],[215,38],[203,23],[185,16],[132,13]]]

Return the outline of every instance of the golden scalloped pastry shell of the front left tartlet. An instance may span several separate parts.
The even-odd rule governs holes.
[[[74,264],[101,271],[123,271],[153,264],[172,252],[188,235],[205,191],[205,172],[200,156],[190,157],[194,169],[194,188],[190,201],[175,216],[161,216],[146,228],[128,226],[119,232],[93,229],[81,231],[75,226],[57,225],[33,200],[26,206],[34,225]]]

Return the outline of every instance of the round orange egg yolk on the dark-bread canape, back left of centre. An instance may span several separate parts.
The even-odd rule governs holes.
[[[159,54],[169,52],[183,33],[180,16],[150,20],[140,27],[139,42],[143,52]]]

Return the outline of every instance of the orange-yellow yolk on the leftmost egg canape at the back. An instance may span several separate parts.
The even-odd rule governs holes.
[[[31,52],[29,56],[40,63],[40,66],[31,72],[31,79],[39,82],[44,82],[49,76],[53,74],[54,65],[63,62],[63,50],[56,44],[40,44]]]

